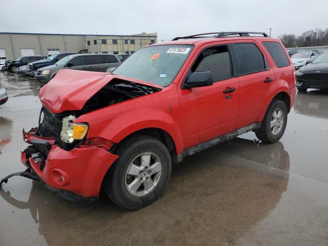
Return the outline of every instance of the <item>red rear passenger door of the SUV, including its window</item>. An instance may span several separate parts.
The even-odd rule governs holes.
[[[237,129],[258,120],[261,106],[272,88],[277,88],[275,72],[270,69],[261,48],[253,40],[238,40],[232,45],[240,83]]]

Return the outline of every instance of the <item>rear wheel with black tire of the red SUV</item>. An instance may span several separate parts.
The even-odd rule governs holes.
[[[280,112],[281,116],[277,117],[280,115]],[[274,116],[274,113],[276,116]],[[268,144],[278,141],[286,129],[287,115],[287,108],[283,101],[278,99],[272,100],[265,113],[261,128],[255,133],[257,138]],[[276,125],[271,127],[271,124],[274,122]]]

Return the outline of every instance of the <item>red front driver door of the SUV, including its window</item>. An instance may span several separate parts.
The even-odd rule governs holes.
[[[188,71],[211,71],[212,86],[179,89],[183,149],[232,132],[239,109],[239,80],[228,44],[203,46]]]

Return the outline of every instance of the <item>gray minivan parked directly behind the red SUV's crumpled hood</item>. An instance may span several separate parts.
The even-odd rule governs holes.
[[[58,60],[54,65],[36,70],[35,78],[47,83],[60,69],[106,72],[110,67],[117,67],[120,60],[113,54],[77,54],[69,55]]]

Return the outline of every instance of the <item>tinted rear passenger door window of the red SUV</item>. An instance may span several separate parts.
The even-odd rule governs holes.
[[[253,73],[265,69],[264,57],[255,44],[235,44],[239,74]]]

